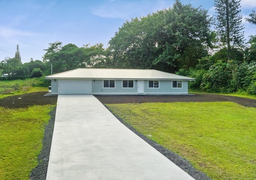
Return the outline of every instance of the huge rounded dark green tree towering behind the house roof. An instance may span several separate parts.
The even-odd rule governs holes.
[[[212,47],[207,11],[183,5],[126,21],[109,41],[110,56],[117,68],[155,68],[174,72],[195,67]]]

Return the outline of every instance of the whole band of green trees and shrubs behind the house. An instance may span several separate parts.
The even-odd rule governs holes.
[[[44,75],[51,66],[54,74],[75,68],[157,69],[196,78],[190,84],[195,90],[256,94],[256,35],[244,42],[240,0],[214,0],[214,6],[210,17],[207,10],[176,0],[172,8],[124,22],[108,48],[49,43],[44,67],[36,68]],[[249,17],[256,25],[255,11]],[[35,62],[25,63],[24,74],[31,76],[34,69],[28,66]]]

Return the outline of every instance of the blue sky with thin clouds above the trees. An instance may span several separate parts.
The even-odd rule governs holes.
[[[172,7],[174,0],[0,0],[0,61],[14,57],[19,44],[22,63],[42,60],[48,43],[60,41],[82,47],[108,41],[126,20]],[[202,5],[214,14],[214,0],[181,0]],[[255,0],[241,0],[244,34],[256,26],[244,18],[256,10]]]

